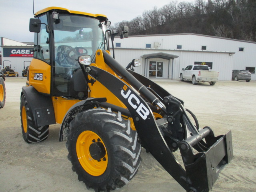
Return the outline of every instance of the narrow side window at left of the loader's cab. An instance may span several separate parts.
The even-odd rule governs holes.
[[[38,17],[42,23],[47,24],[46,14]],[[34,58],[38,58],[50,64],[49,34],[46,32],[46,25],[41,24],[41,31],[35,34]]]

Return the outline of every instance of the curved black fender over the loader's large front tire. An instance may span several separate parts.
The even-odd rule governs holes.
[[[106,102],[106,101],[107,101],[106,98],[88,98],[86,100],[82,100],[82,101],[74,104],[68,110],[68,112],[66,112],[65,117],[62,121],[62,124],[60,127],[59,141],[67,140],[69,124],[76,117],[76,115],[78,113],[92,109],[94,107],[100,107],[99,103]]]

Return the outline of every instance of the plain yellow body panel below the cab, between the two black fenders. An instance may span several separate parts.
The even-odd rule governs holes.
[[[81,100],[77,99],[66,99],[62,97],[52,97],[52,104],[54,107],[54,113],[55,113],[55,120],[56,123],[61,124],[66,112],[77,102],[80,102]]]

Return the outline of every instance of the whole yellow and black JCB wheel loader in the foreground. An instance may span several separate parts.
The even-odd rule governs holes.
[[[200,128],[182,100],[132,70],[139,60],[119,64],[114,49],[110,55],[116,33],[108,26],[105,15],[59,7],[30,19],[35,44],[21,93],[24,140],[46,140],[49,125],[61,124],[72,170],[96,192],[126,185],[142,147],[187,192],[209,191],[232,159],[231,132],[216,137],[210,127]],[[127,27],[120,36],[128,37]]]

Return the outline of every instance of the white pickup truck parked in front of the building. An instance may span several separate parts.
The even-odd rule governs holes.
[[[209,82],[214,85],[218,81],[219,72],[210,71],[207,65],[189,65],[180,71],[180,80],[192,81],[195,85],[198,82]]]

